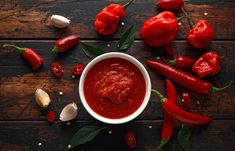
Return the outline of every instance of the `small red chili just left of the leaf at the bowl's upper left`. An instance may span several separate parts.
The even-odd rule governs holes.
[[[75,46],[80,40],[80,35],[64,36],[55,42],[53,52],[65,52]]]

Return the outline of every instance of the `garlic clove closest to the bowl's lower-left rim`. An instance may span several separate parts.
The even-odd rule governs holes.
[[[61,121],[70,121],[78,115],[78,107],[76,103],[66,105],[60,113]]]

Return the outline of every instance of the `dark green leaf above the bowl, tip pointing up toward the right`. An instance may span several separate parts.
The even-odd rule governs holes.
[[[136,33],[136,28],[132,25],[120,38],[118,41],[117,50],[123,51],[131,47],[132,43],[134,42]]]

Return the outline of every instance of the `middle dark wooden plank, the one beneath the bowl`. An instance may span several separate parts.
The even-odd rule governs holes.
[[[0,46],[5,41],[0,42]],[[44,67],[38,72],[32,72],[31,68],[26,66],[19,54],[15,53],[13,49],[2,49],[0,51],[0,120],[37,120],[45,119],[45,114],[39,111],[34,101],[34,91],[36,88],[43,87],[52,97],[52,104],[50,109],[56,111],[57,115],[60,113],[63,106],[71,101],[76,101],[79,106],[79,115],[77,119],[93,119],[83,108],[78,95],[78,79],[71,78],[71,65],[75,63],[87,64],[90,59],[87,58],[77,46],[71,50],[64,57],[58,57],[51,53],[53,43],[46,41],[11,41],[17,45],[33,47],[37,49],[43,57],[46,58]],[[111,47],[108,48],[103,42],[89,42],[92,45],[99,46],[109,51],[114,50],[115,41],[110,42]],[[213,42],[211,49],[225,55],[222,63],[222,71],[218,76],[208,78],[215,85],[223,85],[230,80],[235,80],[234,68],[234,41],[230,42]],[[189,55],[194,58],[203,52],[192,50],[185,41],[177,41],[174,43],[175,49],[179,54]],[[131,49],[127,51],[128,54],[136,57],[144,65],[148,58],[155,58],[157,56],[165,56],[165,53],[160,49],[153,49],[146,47],[142,41],[136,41]],[[50,73],[50,64],[57,60],[65,66],[65,73],[62,79],[54,78]],[[145,65],[146,66],[146,65]],[[152,80],[153,88],[157,88],[164,92],[165,78],[156,73],[154,70],[147,67]],[[177,86],[179,97],[181,88]],[[212,115],[216,119],[235,118],[235,96],[234,86],[231,88],[210,95],[208,97],[201,97],[192,93],[193,112]],[[59,96],[59,92],[64,93]],[[199,101],[198,105],[196,102]],[[179,99],[180,102],[180,99]],[[150,103],[143,114],[138,119],[162,119],[162,109],[158,104],[157,98],[152,96]]]

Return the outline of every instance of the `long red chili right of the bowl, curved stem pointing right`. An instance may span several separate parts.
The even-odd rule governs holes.
[[[232,84],[232,82],[230,82],[223,88],[217,88],[214,87],[210,82],[202,81],[197,77],[194,77],[161,61],[148,60],[147,64],[177,84],[201,95],[208,95],[210,93],[222,91]]]

